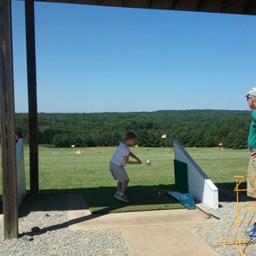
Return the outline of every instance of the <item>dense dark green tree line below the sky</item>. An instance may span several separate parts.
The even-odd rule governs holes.
[[[38,113],[39,144],[52,147],[116,146],[126,131],[143,147],[177,139],[186,147],[247,148],[249,111],[165,110],[138,113]],[[16,113],[16,133],[28,142],[28,115]]]

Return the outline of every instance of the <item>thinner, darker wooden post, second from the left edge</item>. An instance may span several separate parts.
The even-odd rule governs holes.
[[[29,111],[29,156],[30,156],[30,191],[38,195],[38,99],[37,67],[35,44],[34,0],[25,1],[26,12],[26,67]]]

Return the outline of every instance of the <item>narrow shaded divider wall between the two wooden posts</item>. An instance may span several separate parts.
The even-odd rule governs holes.
[[[26,196],[26,174],[24,164],[23,139],[19,139],[16,143],[16,165],[17,165],[17,193],[18,206]]]

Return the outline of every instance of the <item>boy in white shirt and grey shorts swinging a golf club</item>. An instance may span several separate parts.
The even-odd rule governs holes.
[[[137,156],[131,153],[130,148],[136,143],[136,135],[134,132],[127,132],[125,135],[125,142],[120,143],[119,147],[116,148],[112,159],[109,163],[109,169],[114,180],[118,180],[117,190],[114,194],[114,198],[119,201],[129,202],[125,195],[125,190],[129,183],[129,177],[125,172],[125,165],[140,165],[142,162]],[[130,156],[136,161],[129,160]]]

